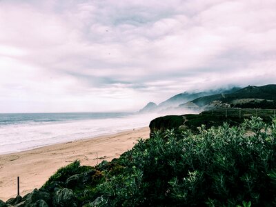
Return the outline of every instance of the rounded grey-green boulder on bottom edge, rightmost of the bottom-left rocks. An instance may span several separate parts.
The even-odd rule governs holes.
[[[72,190],[68,188],[63,188],[55,190],[52,204],[54,207],[75,207],[77,206],[78,201]]]

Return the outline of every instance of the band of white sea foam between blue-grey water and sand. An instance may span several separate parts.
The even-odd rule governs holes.
[[[28,122],[0,126],[0,154],[29,150],[88,137],[148,126],[160,115],[130,115],[108,119]]]

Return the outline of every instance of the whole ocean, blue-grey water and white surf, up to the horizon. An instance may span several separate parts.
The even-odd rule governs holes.
[[[141,128],[158,116],[129,112],[0,114],[0,155]]]

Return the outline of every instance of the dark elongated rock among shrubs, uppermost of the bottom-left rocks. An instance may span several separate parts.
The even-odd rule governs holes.
[[[83,172],[77,175],[72,175],[66,180],[67,188],[82,188],[86,184],[92,181],[92,175],[94,175],[96,170],[90,170],[88,172]]]

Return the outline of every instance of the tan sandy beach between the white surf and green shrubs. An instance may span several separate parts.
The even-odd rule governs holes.
[[[148,127],[70,141],[34,150],[0,155],[0,199],[6,201],[17,195],[17,176],[20,177],[20,195],[40,188],[59,168],[79,159],[81,165],[95,166],[103,159],[119,157],[137,143],[147,139]]]

